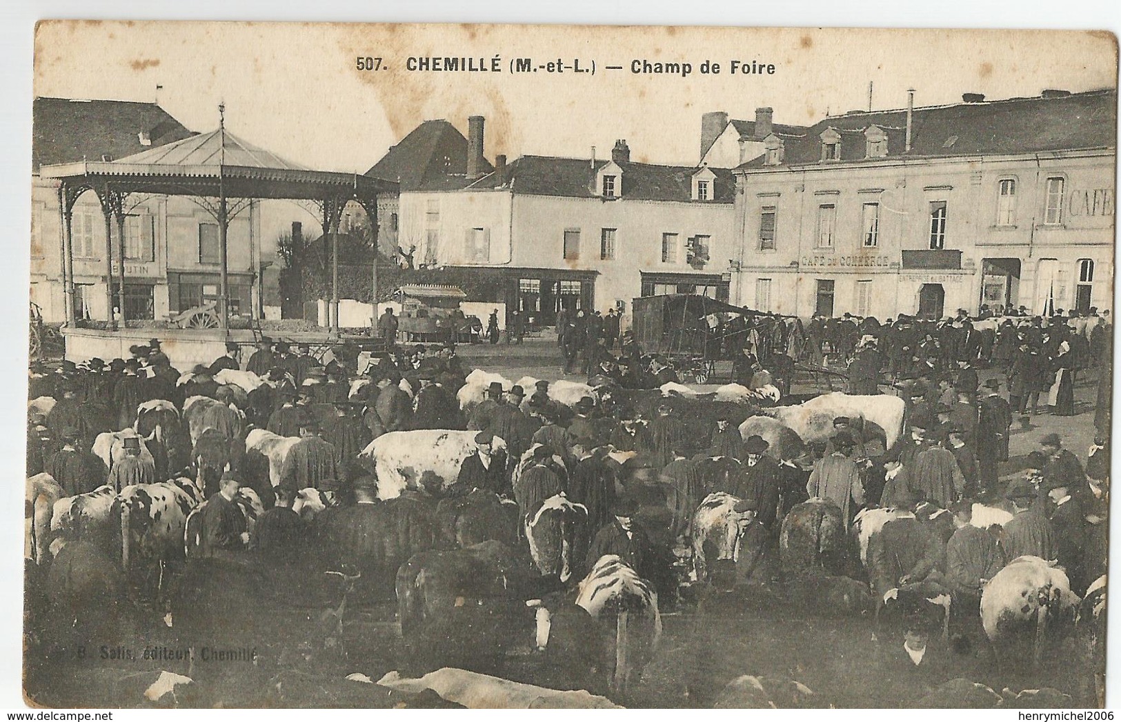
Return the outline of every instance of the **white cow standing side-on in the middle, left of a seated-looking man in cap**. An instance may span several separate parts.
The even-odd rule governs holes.
[[[370,442],[359,459],[373,462],[379,499],[393,499],[405,489],[439,494],[455,483],[463,460],[479,448],[478,434],[439,428],[390,432]],[[492,448],[504,451],[506,442],[495,436]]]

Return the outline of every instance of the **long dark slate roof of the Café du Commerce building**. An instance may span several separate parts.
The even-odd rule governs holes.
[[[841,161],[863,161],[864,130],[873,124],[887,132],[888,159],[1115,148],[1117,91],[916,108],[910,151],[905,151],[906,109],[833,115],[808,128],[803,138],[785,139],[781,165],[766,166],[760,157],[740,167],[821,165],[821,135],[828,128],[841,135]]]

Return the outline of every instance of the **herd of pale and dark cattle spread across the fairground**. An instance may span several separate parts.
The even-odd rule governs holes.
[[[242,389],[262,382],[250,378],[249,372],[223,373],[234,374],[228,380]],[[480,401],[492,378],[482,372],[469,377],[467,385],[460,390],[461,406],[469,408]],[[698,396],[679,385],[663,391]],[[610,394],[611,389],[563,381],[549,388],[553,400],[566,406],[585,397],[602,404]],[[752,404],[759,399],[759,392],[725,387],[716,399]],[[31,405],[49,414],[50,399],[36,399]],[[833,431],[832,419],[841,415],[859,419],[865,435],[881,439],[884,448],[896,444],[905,428],[905,405],[897,397],[828,394],[749,416],[740,432],[743,438],[761,436],[769,442],[768,454],[778,461],[789,461],[802,455],[808,445],[827,441]],[[192,444],[197,444],[210,428],[220,428],[226,437],[237,438],[242,423],[235,401],[228,405],[207,397],[192,397],[182,414],[170,402],[148,401],[137,409],[132,427],[101,434],[92,452],[112,469],[124,455],[127,436],[139,436],[140,456],[150,459],[146,442],[172,429],[186,432]],[[245,454],[267,464],[272,485],[279,485],[286,455],[298,438],[265,429],[253,429],[244,438]],[[564,493],[545,500],[525,518],[519,518],[515,502],[489,492],[441,499],[442,492],[455,483],[463,460],[475,451],[474,439],[475,432],[391,432],[376,438],[360,454],[376,479],[379,499],[371,509],[374,521],[367,522],[363,533],[376,534],[380,539],[368,545],[376,550],[370,558],[360,559],[360,566],[393,580],[401,648],[416,661],[410,668],[429,673],[413,681],[387,675],[379,684],[396,684],[402,689],[427,686],[439,692],[437,684],[469,688],[470,681],[478,685],[485,677],[498,679],[488,683],[491,685],[513,685],[482,673],[501,670],[502,656],[515,646],[510,636],[525,631],[532,638],[530,646],[550,660],[548,686],[593,693],[626,688],[658,650],[664,609],[659,609],[655,584],[613,555],[600,558],[586,575],[581,575],[583,555],[595,529],[589,528],[587,509]],[[502,441],[495,438],[494,444],[501,447]],[[531,462],[532,454],[534,450],[526,452],[515,474]],[[608,459],[623,464],[630,456],[633,452],[612,451]],[[73,497],[64,497],[47,473],[29,478],[26,557],[33,568],[45,572],[35,578],[44,580],[43,592],[52,608],[81,622],[81,614],[101,613],[98,607],[91,609],[91,600],[123,594],[142,599],[158,615],[170,610],[166,617],[170,627],[179,610],[168,591],[167,577],[184,574],[185,567],[188,571],[184,575],[191,577],[189,567],[196,562],[214,564],[213,559],[200,558],[203,533],[200,524],[207,503],[203,491],[205,470],[196,466],[192,472],[194,476],[135,484],[119,491],[105,485]],[[256,519],[265,512],[261,499],[252,489],[242,487],[235,501],[252,536]],[[704,584],[711,567],[744,552],[743,526],[734,510],[739,501],[721,492],[698,506],[687,531],[692,544],[679,550],[684,558],[676,565],[684,570],[682,586]],[[345,524],[345,516],[333,508],[327,494],[314,488],[300,490],[293,509],[309,530],[308,563],[317,565],[319,572],[337,566],[340,559],[326,547],[331,546],[331,539],[337,538],[337,527]],[[788,573],[819,576],[822,604],[874,608],[878,619],[881,608],[910,592],[917,595],[919,607],[925,603],[943,615],[945,633],[952,609],[947,594],[893,589],[873,599],[868,584],[850,578],[860,573],[854,574],[843,559],[856,555],[860,566],[865,567],[864,574],[871,578],[869,549],[882,543],[879,537],[888,525],[926,525],[944,545],[954,531],[951,516],[947,510],[928,503],[916,509],[869,508],[846,530],[849,525],[842,520],[841,510],[814,498],[795,505],[781,521],[777,556]],[[975,505],[972,524],[988,528],[1010,518],[1004,509]],[[267,559],[253,563],[258,562],[269,563]],[[213,583],[221,578],[225,577],[216,576]],[[1073,620],[1075,615],[1099,632],[1103,630],[1104,576],[1091,585],[1085,600],[1073,594],[1069,586],[1064,571],[1053,563],[1020,557],[989,582],[980,609],[974,612],[980,613],[984,632],[997,647],[1010,638],[1025,636],[1041,645],[1049,624]],[[214,593],[221,594],[221,590]],[[666,603],[664,599],[663,608]],[[345,605],[344,595],[337,610],[340,619]],[[458,656],[450,656],[452,649],[458,649]],[[454,672],[448,668],[472,665],[475,672],[463,672],[466,677],[456,677],[454,684],[448,682]],[[441,673],[444,676],[438,679],[428,679]],[[800,683],[791,684],[796,685],[790,687],[793,698],[812,705],[813,693],[799,689]],[[741,705],[745,704],[744,691],[758,694],[763,688],[754,677],[736,679],[733,685],[739,685],[736,689],[742,687],[742,694],[734,689],[725,692]],[[450,692],[451,696],[441,693],[444,698],[453,698],[455,694],[470,696],[463,689]],[[528,694],[527,698],[541,703],[541,693],[536,691],[530,694],[519,688],[509,694]],[[490,702],[493,706],[493,696]],[[595,694],[578,701],[562,696],[555,703],[610,705]]]

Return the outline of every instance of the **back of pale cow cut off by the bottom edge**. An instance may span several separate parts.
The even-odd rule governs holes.
[[[378,679],[378,684],[410,693],[432,689],[444,700],[462,704],[469,710],[622,709],[606,697],[583,689],[562,692],[455,667],[429,672],[416,679],[404,678],[399,673],[390,672]]]

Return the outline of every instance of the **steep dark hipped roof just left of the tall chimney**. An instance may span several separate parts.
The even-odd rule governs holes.
[[[483,172],[493,169],[483,160]],[[470,185],[467,139],[446,120],[426,120],[365,175],[401,184],[401,191],[455,191]]]

